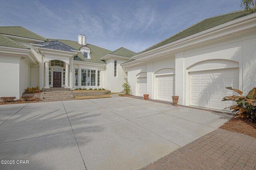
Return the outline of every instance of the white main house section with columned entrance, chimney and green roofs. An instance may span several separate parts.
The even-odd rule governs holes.
[[[127,73],[120,66],[136,54],[110,51],[78,41],[46,39],[20,26],[0,27],[0,97],[19,98],[27,87],[123,90]]]

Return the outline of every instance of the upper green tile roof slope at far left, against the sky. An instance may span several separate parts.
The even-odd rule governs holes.
[[[0,26],[0,34],[47,41],[46,38],[21,26]]]

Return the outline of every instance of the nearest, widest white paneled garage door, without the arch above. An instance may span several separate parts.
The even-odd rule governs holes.
[[[224,96],[238,95],[225,87],[239,89],[238,69],[190,73],[190,105],[220,110],[234,105],[232,101],[221,101]]]

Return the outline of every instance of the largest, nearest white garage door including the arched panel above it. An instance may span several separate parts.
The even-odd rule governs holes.
[[[222,110],[233,105],[221,101],[234,95],[225,87],[239,89],[239,63],[227,59],[211,59],[195,63],[187,68],[189,74],[189,104]]]

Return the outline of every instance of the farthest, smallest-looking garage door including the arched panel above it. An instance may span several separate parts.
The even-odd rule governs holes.
[[[147,93],[147,73],[141,72],[136,75],[137,96],[143,96]]]

